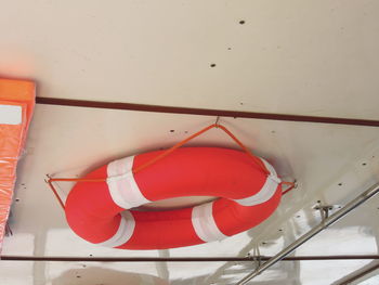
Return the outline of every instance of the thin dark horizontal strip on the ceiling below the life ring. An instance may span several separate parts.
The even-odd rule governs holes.
[[[64,261],[64,262],[220,262],[220,261],[241,261],[252,262],[257,259],[267,261],[272,257],[35,257],[35,256],[2,256],[0,260],[6,261]],[[379,260],[379,255],[353,255],[353,256],[296,256],[285,257],[282,261],[301,261],[301,260]]]

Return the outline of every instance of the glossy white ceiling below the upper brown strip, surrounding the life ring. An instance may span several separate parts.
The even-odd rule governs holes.
[[[267,221],[222,242],[170,250],[102,248],[71,232],[43,181],[47,173],[80,176],[117,157],[169,147],[214,122],[214,119],[193,115],[37,105],[27,147],[18,168],[16,202],[10,223],[14,235],[5,238],[3,255],[243,257],[259,247],[262,255],[270,256],[319,222],[319,212],[313,209],[317,200],[332,205],[335,211],[378,181],[379,132],[376,128],[221,118],[221,124],[257,154],[267,158],[283,178],[296,178],[299,182],[299,187],[283,198],[280,207]],[[212,130],[190,145],[235,147],[221,130]],[[349,179],[347,173],[350,173]],[[67,194],[69,186],[60,183],[61,194]],[[377,205],[378,198],[367,202],[347,220],[336,223],[315,237],[314,242],[300,248],[296,255],[377,254],[379,228],[377,219],[373,218],[378,215]],[[311,263],[323,261],[306,262],[311,261],[302,261],[298,265],[282,262],[259,280],[262,284],[274,284],[273,280],[278,284],[293,284],[292,281],[296,284],[317,284],[309,281],[319,274],[325,263],[312,267]],[[369,261],[328,262],[335,262],[334,267],[340,268],[340,271],[336,269],[332,271],[335,274],[331,272],[325,275],[324,284]],[[142,274],[170,281],[171,284],[231,284],[252,270],[253,265],[238,264],[35,262],[30,273],[34,281],[28,281],[29,273],[25,273],[24,277],[15,277],[13,284],[63,284],[65,278],[75,280],[73,284],[92,284],[91,272],[99,268],[110,280],[112,275],[116,278],[119,274],[130,274],[128,277],[134,278],[135,274]],[[295,269],[297,275],[288,278],[288,272]],[[28,270],[25,265],[25,272]],[[76,277],[77,272],[81,277]]]

